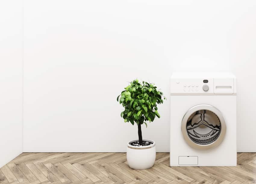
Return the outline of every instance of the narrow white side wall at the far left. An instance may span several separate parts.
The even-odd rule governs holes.
[[[22,153],[21,15],[21,1],[0,1],[0,168]]]

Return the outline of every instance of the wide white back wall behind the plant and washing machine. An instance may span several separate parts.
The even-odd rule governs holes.
[[[25,0],[24,152],[118,152],[137,138],[116,97],[173,71],[238,78],[238,151],[256,151],[255,1]],[[169,151],[169,100],[144,138]],[[250,145],[249,145],[250,143]]]

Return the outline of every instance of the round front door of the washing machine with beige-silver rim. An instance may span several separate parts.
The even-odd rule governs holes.
[[[200,104],[186,112],[182,119],[181,131],[189,146],[198,150],[208,150],[223,141],[226,123],[217,108]]]

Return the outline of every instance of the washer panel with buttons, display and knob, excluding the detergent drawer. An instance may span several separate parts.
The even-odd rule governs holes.
[[[214,80],[207,79],[171,79],[172,94],[213,94]]]

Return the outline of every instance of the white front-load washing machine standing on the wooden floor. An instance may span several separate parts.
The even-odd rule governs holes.
[[[236,166],[236,77],[173,73],[170,166]]]

